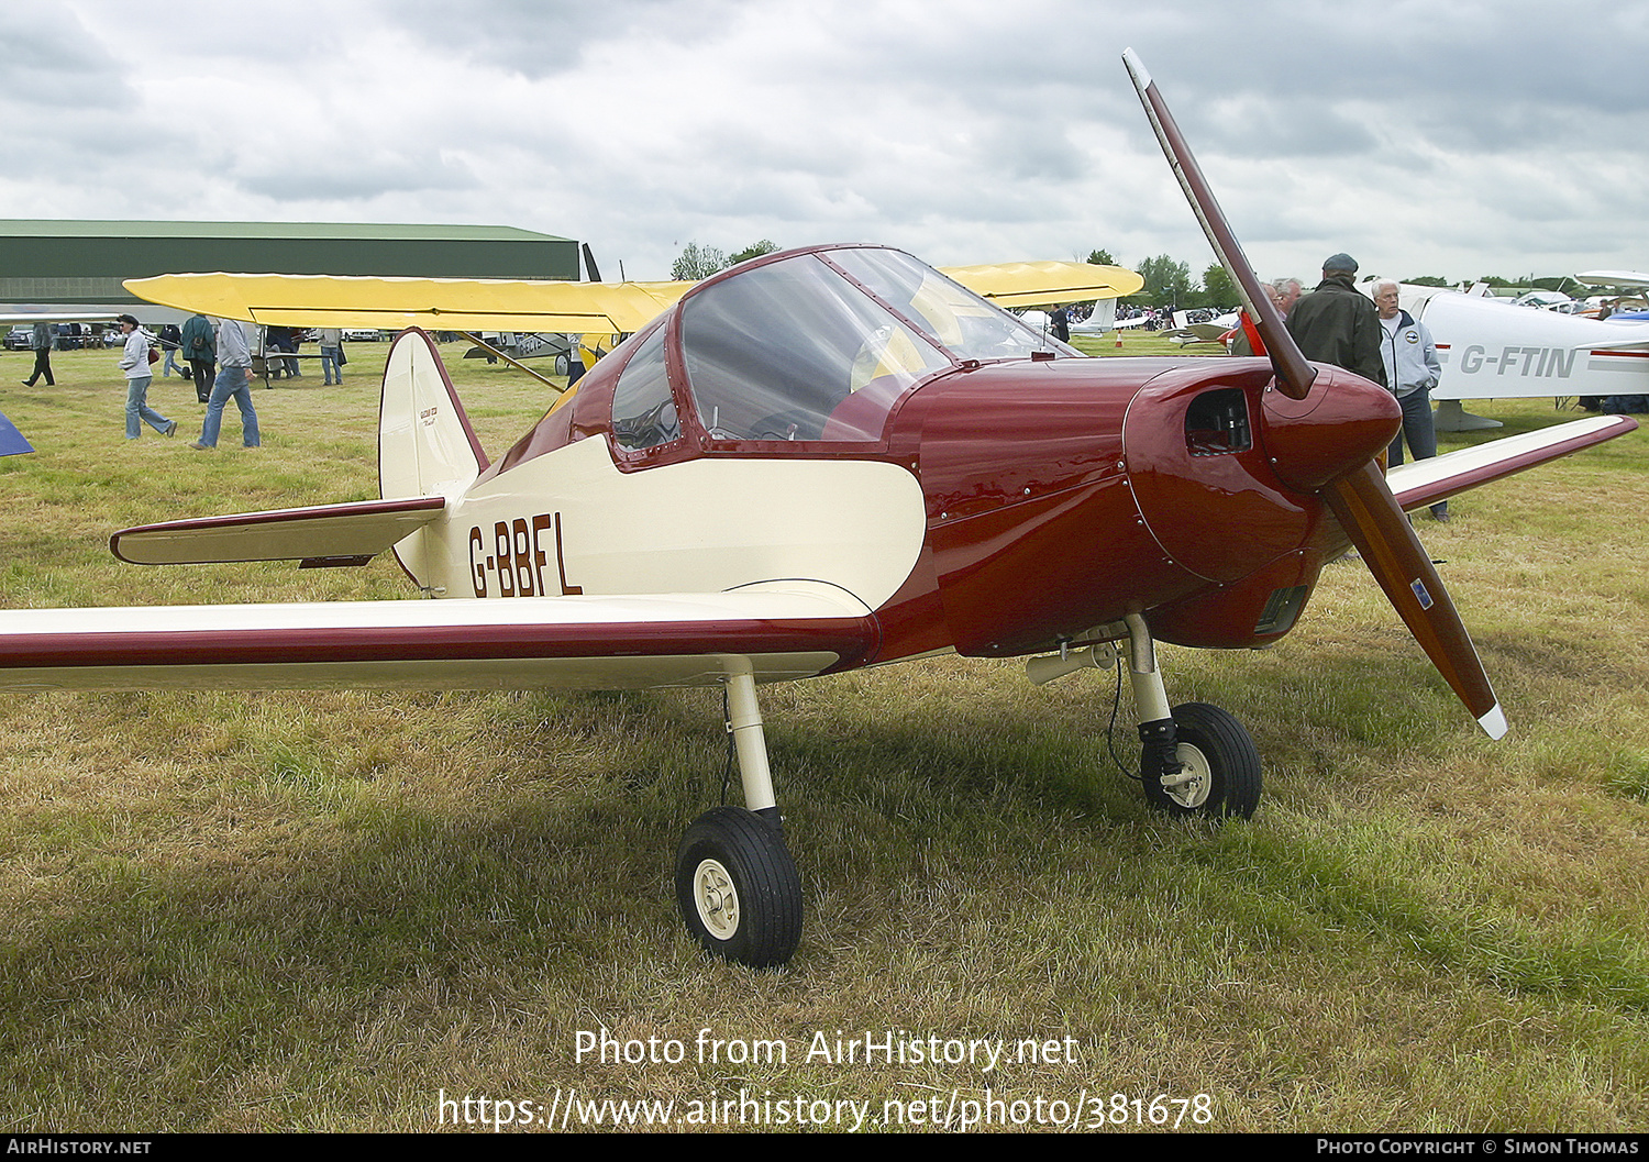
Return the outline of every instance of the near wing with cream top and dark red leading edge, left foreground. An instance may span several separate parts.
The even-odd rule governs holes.
[[[0,611],[0,689],[648,689],[811,677],[881,628],[834,585]]]

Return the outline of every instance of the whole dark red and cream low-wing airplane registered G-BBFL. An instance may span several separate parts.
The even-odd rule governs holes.
[[[755,966],[785,963],[801,931],[763,682],[940,651],[1029,654],[1036,682],[1126,663],[1148,798],[1247,816],[1253,742],[1224,710],[1171,707],[1154,643],[1276,641],[1322,564],[1355,544],[1499,735],[1403,508],[1634,422],[1565,424],[1405,466],[1388,486],[1377,457],[1395,401],[1301,358],[1128,59],[1270,361],[1088,359],[907,254],[808,247],[683,293],[490,460],[434,344],[407,331],[384,372],[384,499],[171,521],[110,547],[139,564],[392,551],[445,600],[13,611],[0,684],[721,686],[744,806],[686,831],[676,892],[706,949]]]

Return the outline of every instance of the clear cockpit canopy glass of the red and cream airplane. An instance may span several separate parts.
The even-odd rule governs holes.
[[[966,361],[1078,354],[909,254],[800,251],[683,300],[681,374],[712,442],[874,442],[892,404]],[[613,437],[632,450],[681,435],[668,326],[613,391]]]

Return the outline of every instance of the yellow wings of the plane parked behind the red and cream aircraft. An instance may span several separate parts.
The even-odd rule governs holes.
[[[1131,295],[1144,282],[1087,262],[947,267],[1001,307]],[[407,326],[450,331],[640,331],[693,282],[531,282],[519,279],[378,279],[310,274],[163,274],[125,288],[162,307],[262,326]]]

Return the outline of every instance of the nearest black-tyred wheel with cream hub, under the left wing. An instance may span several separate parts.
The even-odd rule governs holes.
[[[783,832],[742,808],[701,814],[676,849],[676,903],[706,953],[778,968],[801,939],[801,877]]]

